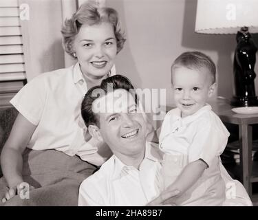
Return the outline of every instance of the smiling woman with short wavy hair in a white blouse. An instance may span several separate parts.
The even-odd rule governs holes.
[[[125,43],[118,14],[85,3],[61,32],[65,51],[78,63],[41,74],[10,101],[19,115],[1,153],[0,183],[8,186],[0,196],[9,206],[76,206],[80,181],[110,156],[88,134],[80,103],[89,88],[111,75]],[[23,182],[30,184],[30,199],[21,199],[28,192]]]

